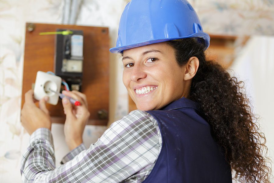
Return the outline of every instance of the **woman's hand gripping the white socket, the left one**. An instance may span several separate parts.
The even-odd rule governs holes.
[[[33,98],[33,90],[25,93],[25,103],[21,110],[21,122],[26,131],[31,135],[38,128],[51,130],[51,117],[46,107],[48,97],[39,101],[39,108],[35,105],[37,100]]]

